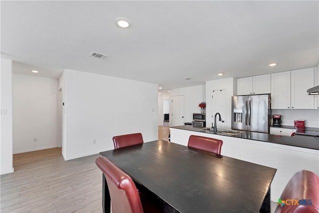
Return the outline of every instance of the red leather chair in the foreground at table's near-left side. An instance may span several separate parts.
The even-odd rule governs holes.
[[[143,213],[138,190],[130,176],[105,157],[98,157],[95,163],[105,175],[112,213]]]

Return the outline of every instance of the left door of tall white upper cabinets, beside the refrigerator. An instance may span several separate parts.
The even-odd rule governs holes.
[[[271,108],[290,109],[290,71],[271,74]]]

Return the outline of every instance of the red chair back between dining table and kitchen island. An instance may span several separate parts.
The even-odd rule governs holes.
[[[188,139],[188,147],[201,149],[220,155],[221,146],[223,145],[222,140],[214,138],[206,138],[202,136],[191,135]]]

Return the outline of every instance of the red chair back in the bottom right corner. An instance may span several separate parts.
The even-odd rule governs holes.
[[[275,213],[319,213],[319,177],[307,170],[297,172],[286,185],[280,196],[282,201],[306,200],[308,205],[295,205],[288,201],[284,206],[277,206]],[[309,200],[312,200],[310,205]],[[291,205],[294,204],[294,205]]]

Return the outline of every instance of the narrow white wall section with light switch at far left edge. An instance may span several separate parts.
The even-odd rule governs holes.
[[[1,111],[6,110],[6,115],[0,115],[0,174],[11,173],[12,159],[12,61],[1,58],[0,71]]]

